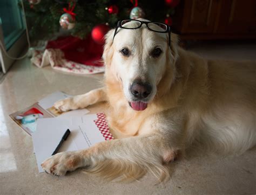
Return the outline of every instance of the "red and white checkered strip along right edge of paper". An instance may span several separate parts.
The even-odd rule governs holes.
[[[114,137],[109,131],[109,126],[107,125],[106,121],[106,115],[104,113],[97,113],[97,117],[98,119],[94,120],[93,122],[95,122],[96,126],[100,130],[100,133],[102,133],[105,140],[113,140]]]

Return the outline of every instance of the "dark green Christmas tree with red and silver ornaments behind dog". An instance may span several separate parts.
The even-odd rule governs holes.
[[[72,36],[82,39],[93,30],[104,34],[120,19],[143,17],[172,25],[174,8],[178,3],[179,0],[24,0],[32,38],[42,29],[51,34],[62,27]]]

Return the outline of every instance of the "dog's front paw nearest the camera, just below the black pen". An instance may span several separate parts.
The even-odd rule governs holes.
[[[42,168],[46,173],[55,176],[64,176],[67,171],[73,171],[79,167],[79,156],[76,152],[60,152],[46,159]]]

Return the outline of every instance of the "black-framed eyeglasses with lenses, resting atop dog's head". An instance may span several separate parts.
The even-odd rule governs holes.
[[[129,25],[125,25],[129,23]],[[159,23],[159,22],[144,22],[140,21],[137,19],[124,19],[124,20],[119,20],[116,26],[116,29],[114,30],[114,37],[117,34],[118,28],[120,29],[139,29],[142,27],[142,25],[145,24],[147,26],[147,29],[154,31],[154,32],[160,32],[160,33],[168,33],[169,36],[169,46],[171,48],[171,37],[170,37],[170,32],[171,32],[171,27],[167,24],[164,23]]]

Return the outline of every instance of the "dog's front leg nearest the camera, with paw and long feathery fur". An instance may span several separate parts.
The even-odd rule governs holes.
[[[100,142],[89,149],[56,154],[46,159],[42,167],[56,176],[86,166],[90,172],[111,178],[136,178],[139,172],[146,171],[160,178],[163,172],[168,172],[166,163],[172,161],[179,150],[171,147],[169,141],[166,136],[155,133]]]

